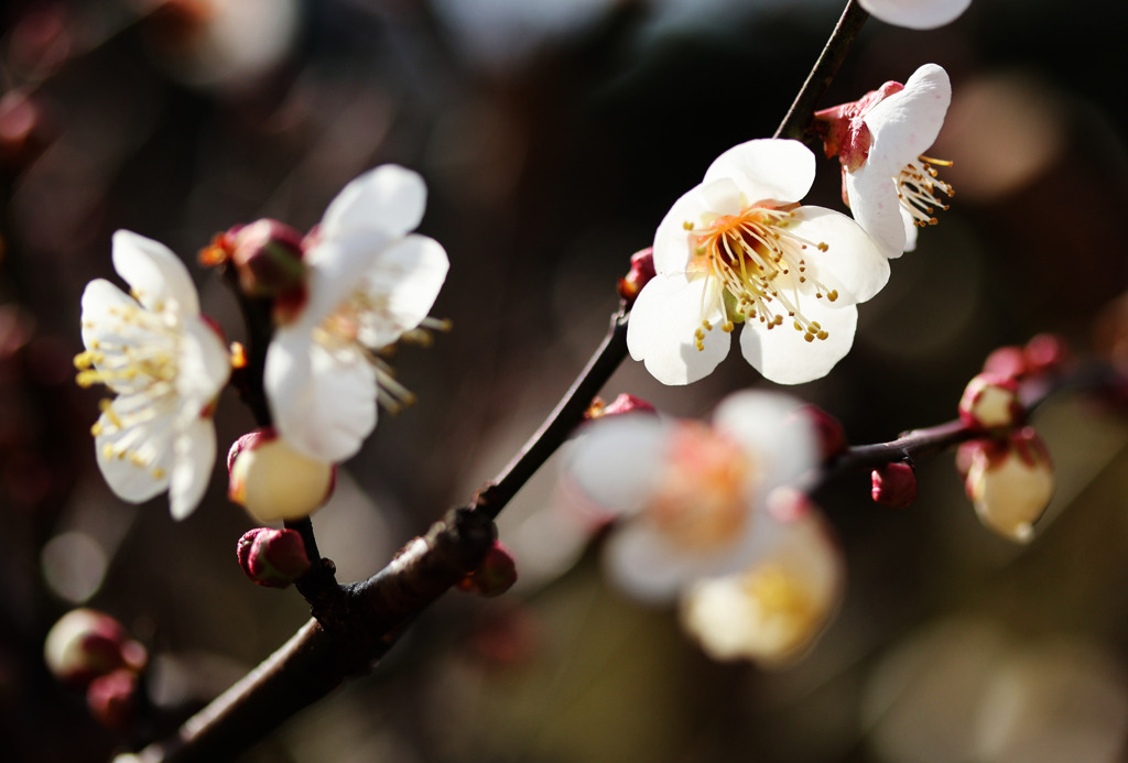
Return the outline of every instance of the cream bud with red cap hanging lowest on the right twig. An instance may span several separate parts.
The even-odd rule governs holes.
[[[1033,523],[1054,495],[1054,468],[1038,433],[1024,427],[1003,441],[969,444],[964,480],[979,521],[1020,543],[1033,538]]]

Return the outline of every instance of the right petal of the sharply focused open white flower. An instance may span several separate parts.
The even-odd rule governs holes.
[[[809,247],[804,259],[809,281],[817,280],[827,289],[838,290],[832,304],[865,302],[884,287],[889,281],[889,260],[858,223],[820,206],[801,206],[794,215],[791,233],[827,245],[826,251]],[[896,222],[900,225],[899,215]],[[816,301],[822,300],[808,298],[800,308],[805,313],[807,305]]]

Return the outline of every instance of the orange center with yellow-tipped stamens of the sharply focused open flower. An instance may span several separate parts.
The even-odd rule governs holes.
[[[834,302],[838,292],[813,278],[808,272],[803,250],[814,247],[826,251],[825,242],[809,241],[787,229],[797,205],[776,207],[769,202],[747,206],[738,214],[715,218],[696,232],[695,257],[690,272],[704,270],[723,289],[724,312],[722,331],[734,323],[755,318],[773,329],[792,321],[807,341],[826,339],[828,334],[818,321],[808,320],[800,310],[803,299],[826,299]],[[687,230],[695,230],[690,222]],[[813,294],[812,294],[813,292]],[[705,331],[713,330],[708,320],[695,332],[697,349],[705,348]]]

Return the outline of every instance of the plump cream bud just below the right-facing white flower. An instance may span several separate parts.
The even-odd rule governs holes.
[[[333,495],[335,464],[298,453],[273,427],[246,434],[227,456],[228,498],[263,523],[301,520]]]

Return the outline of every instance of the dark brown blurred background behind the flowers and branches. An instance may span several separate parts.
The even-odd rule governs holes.
[[[823,0],[23,0],[0,39],[0,758],[108,760],[138,742],[90,719],[42,660],[71,607],[149,649],[182,720],[308,618],[252,585],[253,526],[212,489],[186,522],[117,500],[94,460],[100,390],[79,390],[79,298],[115,280],[114,230],[185,258],[204,311],[237,305],[195,254],[272,216],[306,229],[362,170],[398,162],[451,260],[453,331],[396,358],[420,403],[384,416],[315,516],[340,579],[368,577],[470,499],[539,425],[616,309],[616,278],[723,150],[770,135],[840,12]],[[952,418],[993,348],[1058,331],[1108,352],[1126,287],[1128,6],[975,0],[929,32],[867,23],[820,106],[920,64],[954,97],[931,156],[952,209],[862,307],[854,351],[792,390],[855,443]],[[841,210],[837,163],[808,202]],[[120,281],[116,281],[121,283]],[[1096,327],[1103,327],[1098,330]],[[767,385],[733,354],[663,388],[627,361],[606,390],[704,416]],[[230,391],[220,447],[253,427]],[[554,463],[501,522],[522,580],[447,596],[371,675],[246,761],[1128,761],[1128,443],[1119,412],[1056,399],[1036,425],[1058,468],[1029,547],[979,525],[950,455],[906,511],[865,476],[826,503],[843,609],[800,665],[710,662],[669,610],[569,542]],[[152,729],[150,729],[152,730]]]

